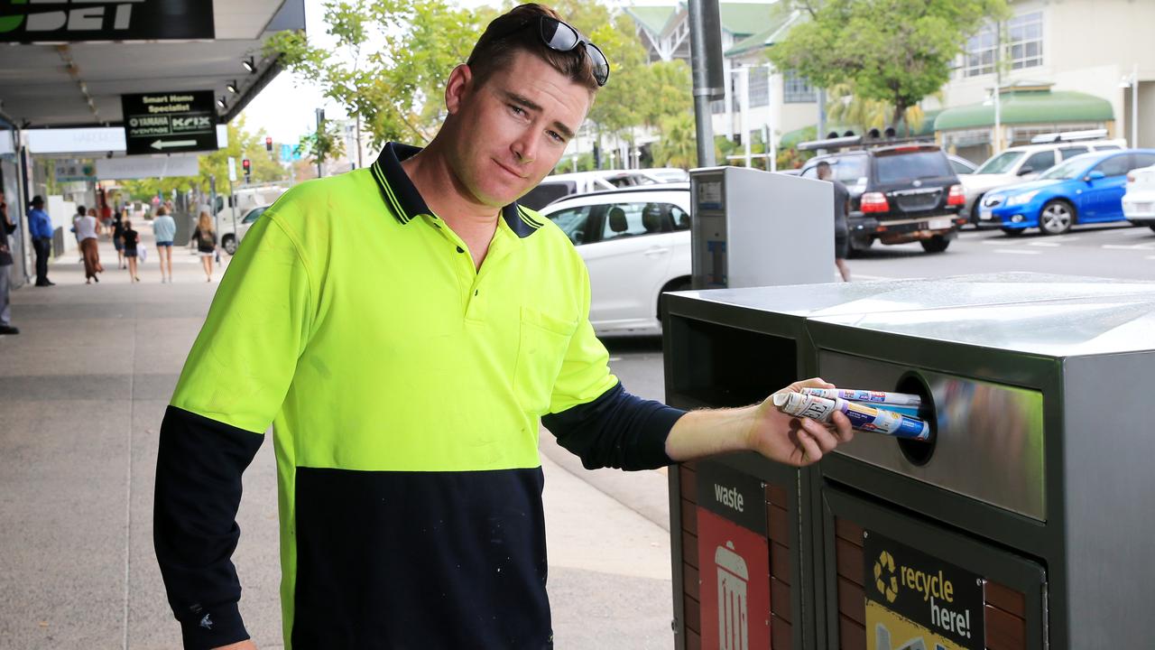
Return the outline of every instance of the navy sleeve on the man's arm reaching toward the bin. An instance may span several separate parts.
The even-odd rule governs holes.
[[[673,463],[665,453],[665,438],[685,414],[629,394],[619,382],[594,401],[551,413],[542,423],[587,470],[654,470]]]

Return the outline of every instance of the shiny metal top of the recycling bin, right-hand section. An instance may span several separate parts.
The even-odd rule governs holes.
[[[1155,282],[1040,279],[949,278],[918,287],[923,308],[887,309],[874,296],[878,309],[811,319],[1056,357],[1155,350]]]

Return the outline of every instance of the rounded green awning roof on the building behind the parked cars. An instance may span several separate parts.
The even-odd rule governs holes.
[[[1109,121],[1115,119],[1111,103],[1075,90],[1004,90],[1000,106],[1003,124],[1056,124]],[[983,103],[946,109],[934,119],[934,131],[988,127],[994,124],[994,105]]]

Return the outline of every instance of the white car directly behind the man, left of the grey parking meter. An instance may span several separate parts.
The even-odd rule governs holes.
[[[690,184],[575,195],[541,212],[586,260],[594,331],[661,334],[660,296],[690,288]]]

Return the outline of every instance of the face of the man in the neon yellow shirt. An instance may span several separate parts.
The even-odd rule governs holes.
[[[459,75],[471,77],[465,66],[454,71]],[[450,164],[478,202],[500,207],[557,167],[593,97],[586,87],[523,51],[479,87],[475,81],[455,87],[450,79],[446,93],[455,128]]]

